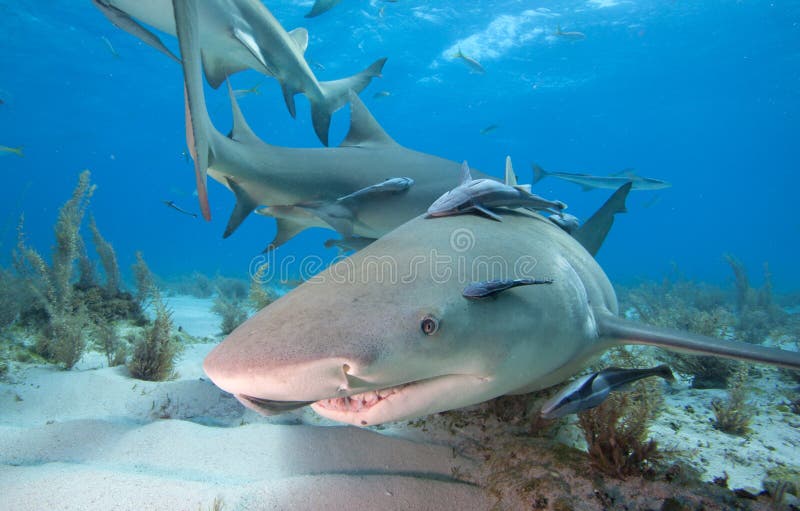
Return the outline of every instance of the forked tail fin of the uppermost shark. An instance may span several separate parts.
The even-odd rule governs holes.
[[[351,90],[358,94],[369,85],[373,78],[380,77],[384,64],[386,64],[386,57],[376,60],[360,73],[348,78],[320,82],[322,98],[312,99],[309,97],[309,101],[311,102],[311,122],[314,125],[314,132],[323,144],[328,145],[328,129],[333,113],[347,104]],[[287,93],[284,91],[284,98],[287,97]],[[289,99],[286,99],[286,104],[289,106]],[[294,104],[294,100],[291,100],[291,104]],[[289,106],[289,111],[293,111],[291,106]]]

